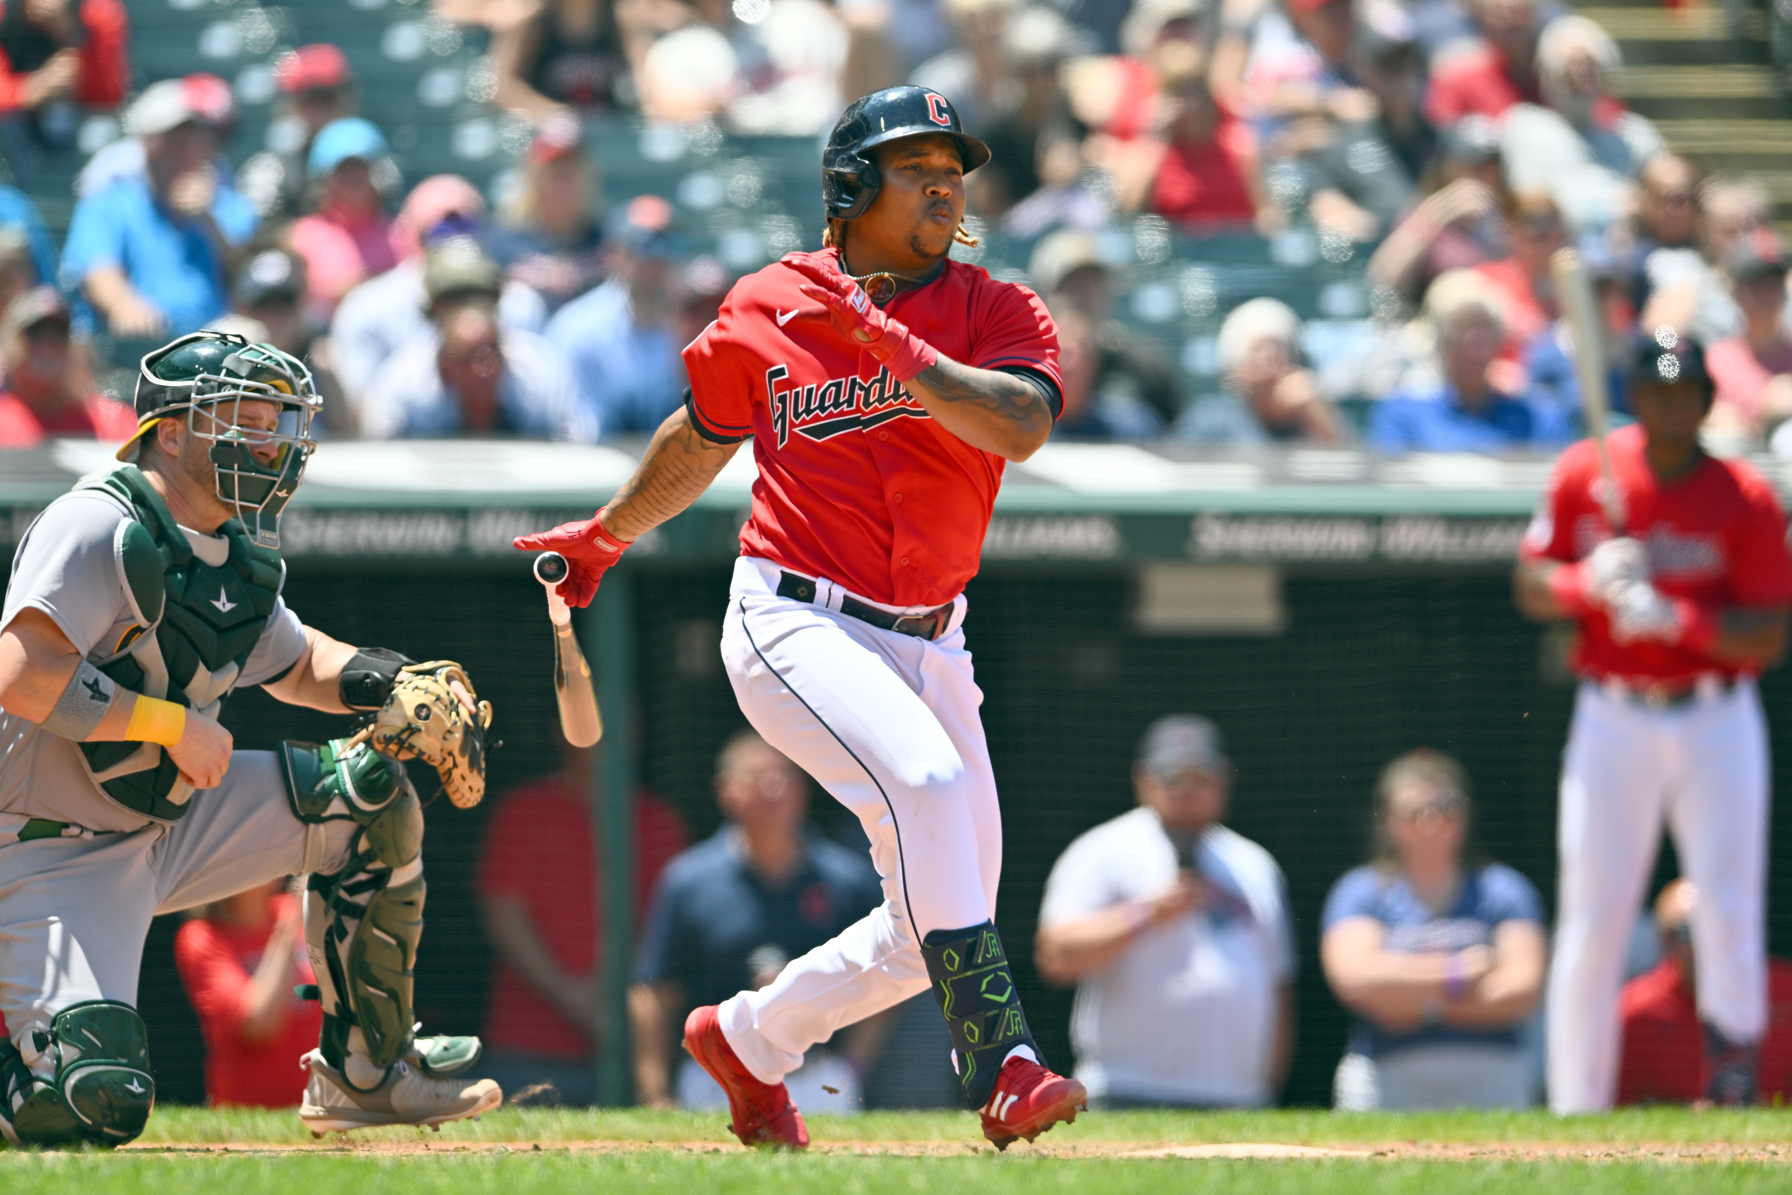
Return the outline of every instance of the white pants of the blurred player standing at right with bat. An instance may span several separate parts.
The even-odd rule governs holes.
[[[1595,1113],[1616,1098],[1624,951],[1663,821],[1681,873],[1699,889],[1692,912],[1699,1016],[1731,1041],[1760,1041],[1767,801],[1767,722],[1751,681],[1674,709],[1581,686],[1561,779],[1552,1111]]]

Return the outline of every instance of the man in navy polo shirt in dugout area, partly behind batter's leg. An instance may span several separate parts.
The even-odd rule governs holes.
[[[634,1088],[647,1105],[726,1105],[695,1062],[676,1075],[667,1066],[690,1009],[763,987],[883,899],[862,855],[806,824],[808,779],[756,733],[722,747],[715,795],[728,822],[659,873],[634,960]],[[880,1014],[842,1030],[844,1059],[810,1050],[785,1079],[794,1098],[855,1111],[858,1075],[887,1028]]]

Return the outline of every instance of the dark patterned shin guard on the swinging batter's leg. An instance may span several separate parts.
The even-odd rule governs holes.
[[[946,1014],[964,1100],[973,1109],[982,1107],[1014,1046],[1032,1046],[1043,1059],[1020,1009],[1002,935],[993,921],[968,930],[934,930],[921,939],[921,959],[934,1000]]]

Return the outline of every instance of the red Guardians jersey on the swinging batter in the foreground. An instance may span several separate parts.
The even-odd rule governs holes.
[[[810,254],[839,269],[839,254]],[[753,437],[760,468],[740,550],[900,607],[943,606],[977,573],[1002,457],[944,430],[824,319],[783,263],[735,283],[685,349],[690,414],[717,441]],[[977,369],[1023,367],[1061,387],[1057,328],[1027,287],[946,262],[885,308]]]

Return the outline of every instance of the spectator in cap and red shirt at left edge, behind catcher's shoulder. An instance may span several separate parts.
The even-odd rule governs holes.
[[[27,290],[0,315],[0,448],[36,448],[52,435],[122,444],[136,434],[129,407],[93,392],[68,326],[56,287]]]

